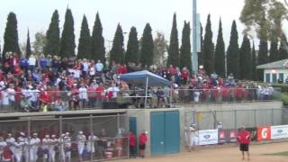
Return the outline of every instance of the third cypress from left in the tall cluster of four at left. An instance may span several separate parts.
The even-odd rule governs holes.
[[[88,58],[88,59],[93,58],[91,54],[90,30],[89,30],[85,15],[83,16],[82,25],[81,25],[77,58]]]

